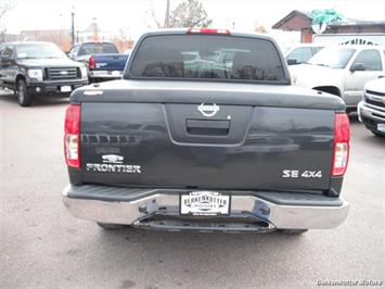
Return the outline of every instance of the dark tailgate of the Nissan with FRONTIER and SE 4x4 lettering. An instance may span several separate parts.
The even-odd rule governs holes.
[[[197,189],[324,190],[334,111],[202,103],[81,103],[88,184]],[[214,104],[204,104],[213,109]]]

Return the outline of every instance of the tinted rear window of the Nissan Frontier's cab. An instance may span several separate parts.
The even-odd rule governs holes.
[[[282,83],[275,46],[262,38],[156,35],[139,45],[129,68],[134,78]]]

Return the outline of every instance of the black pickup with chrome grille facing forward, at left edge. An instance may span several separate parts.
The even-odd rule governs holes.
[[[54,43],[9,42],[0,47],[0,87],[14,90],[22,106],[29,106],[36,95],[69,96],[87,84],[86,66],[68,59]]]

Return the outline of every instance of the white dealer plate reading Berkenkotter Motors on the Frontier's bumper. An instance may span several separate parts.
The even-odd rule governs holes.
[[[182,215],[228,215],[230,196],[216,191],[192,191],[180,196]]]

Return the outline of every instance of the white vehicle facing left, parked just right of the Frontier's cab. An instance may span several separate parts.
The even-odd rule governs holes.
[[[326,47],[307,63],[290,66],[293,85],[339,96],[356,110],[368,80],[385,76],[385,47]]]

